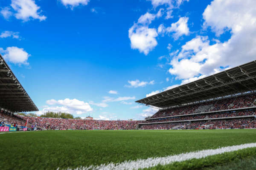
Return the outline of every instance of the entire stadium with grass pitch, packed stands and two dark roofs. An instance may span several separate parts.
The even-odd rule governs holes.
[[[38,111],[38,108],[17,80],[3,57],[1,57],[0,67],[0,130],[1,133],[5,133],[5,136],[1,134],[2,138],[0,140],[3,145],[7,144],[7,141],[15,141],[14,143],[8,142],[8,145],[12,146],[12,149],[8,146],[6,146],[8,149],[3,149],[5,147],[2,147],[1,169],[12,169],[14,167],[18,167],[18,169],[200,169],[203,167],[215,167],[224,162],[227,164],[230,162],[228,166],[239,167],[241,164],[247,164],[248,161],[250,162],[249,165],[247,165],[249,169],[254,166],[252,163],[254,159],[252,159],[251,156],[255,155],[256,150],[251,149],[251,147],[255,147],[256,145],[251,143],[247,146],[243,143],[255,142],[255,130],[253,129],[256,128],[256,60],[136,101],[143,105],[160,108],[153,116],[147,117],[145,120],[141,121],[59,119],[14,114],[17,112]],[[176,155],[177,158],[175,158],[175,160],[164,157],[169,155],[169,153],[163,150],[163,148],[168,146],[167,141],[170,142],[170,133],[168,133],[168,131],[162,131],[162,133],[161,131],[142,131],[177,129],[186,130],[184,130],[185,133],[171,133],[171,142],[178,142],[175,148],[172,148],[174,150],[172,154],[179,154]],[[199,131],[199,133],[195,133],[187,131],[189,129],[233,129],[234,131]],[[239,129],[243,129],[243,131],[239,131]],[[55,130],[62,131],[58,132]],[[81,131],[65,132],[66,130]],[[17,131],[25,133],[15,133]],[[13,134],[7,135],[6,133]],[[84,136],[86,136],[86,138],[84,138]],[[206,136],[207,138],[205,138]],[[72,144],[60,142],[63,137]],[[192,144],[187,145],[187,139],[191,137],[191,142],[195,140],[195,143],[192,142]],[[218,141],[215,141],[216,145],[213,148],[222,146],[219,150],[217,149],[217,156],[215,150],[212,150],[214,154],[206,154],[207,159],[204,159],[205,156],[183,158],[184,156],[189,157],[186,154],[183,155],[184,152],[193,151],[193,149],[207,149],[207,143],[209,145],[208,141],[216,140],[214,139],[216,137]],[[32,140],[27,140],[28,138]],[[95,139],[98,139],[99,142],[95,142]],[[151,141],[146,142],[148,139],[151,139]],[[201,139],[204,139],[204,142],[207,143],[198,142],[198,140]],[[224,140],[225,142],[222,143],[220,140]],[[41,142],[44,141],[46,143],[42,146]],[[81,153],[80,150],[76,151],[74,147],[75,144],[81,147],[82,141],[92,142],[92,145],[89,144],[85,146],[87,150],[86,153]],[[122,147],[116,147],[120,141],[122,141]],[[160,141],[167,143],[161,144]],[[155,142],[158,143],[157,146],[155,146]],[[111,147],[99,147],[100,145],[104,146],[106,143]],[[147,145],[144,145],[145,143]],[[23,146],[21,146],[21,144],[26,146],[26,150],[22,149]],[[186,147],[184,147],[184,144]],[[202,147],[201,144],[205,144],[205,146]],[[238,146],[245,149],[241,150],[241,148],[239,148],[239,152],[230,152],[230,150],[223,151],[228,148],[225,146],[234,144],[240,144]],[[94,147],[93,150],[90,149],[92,146]],[[144,150],[145,148],[151,148],[153,146],[155,149],[151,150],[151,152]],[[184,149],[178,149],[178,146]],[[137,151],[131,152],[131,149],[134,150],[134,147],[139,147],[137,151],[141,152],[141,154],[137,153]],[[107,148],[110,150],[106,150]],[[55,151],[51,153],[52,150]],[[95,150],[102,153],[94,153],[93,151]],[[105,156],[105,153],[111,153],[113,150],[114,153],[110,155],[111,157]],[[160,153],[155,154],[155,152],[159,151]],[[19,153],[17,157],[20,160],[18,164],[14,164],[16,161],[10,162],[8,157],[3,157],[5,154],[10,155],[11,153],[12,155],[12,153],[17,152]],[[127,153],[130,152],[131,154],[127,155]],[[33,159],[25,163],[26,156],[22,153],[33,154],[36,158],[40,158],[41,161],[38,162]],[[116,157],[115,154],[117,153],[122,156]],[[222,153],[220,155],[224,154],[224,158],[218,156],[218,153]],[[51,155],[49,157],[50,159],[47,159],[45,156],[49,154]],[[70,154],[71,157],[69,156]],[[205,153],[195,152],[192,154],[204,155]],[[84,159],[75,161],[78,160],[77,155],[79,155],[79,158],[80,156],[84,157]],[[95,156],[97,158],[95,158]],[[160,161],[150,158],[155,156],[158,156],[158,160]],[[15,157],[15,155],[13,155],[13,157]],[[128,160],[134,161],[127,162],[125,161],[127,158]],[[150,161],[148,161],[148,159]],[[183,161],[180,162],[178,161],[179,159]],[[238,159],[240,161],[239,163],[237,163]],[[202,160],[203,163],[200,163]],[[46,162],[48,163],[46,164]],[[110,164],[108,164],[109,162]],[[140,166],[141,164],[143,165]],[[223,165],[218,166],[221,167]]]

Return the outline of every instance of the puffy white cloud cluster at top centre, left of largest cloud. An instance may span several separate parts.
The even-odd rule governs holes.
[[[172,8],[178,7],[184,0],[178,0],[178,2],[173,0],[150,0],[153,7],[156,8],[160,5],[166,5],[167,10],[165,11],[163,8],[157,12],[157,14],[151,14],[147,12],[143,14],[138,19],[137,23],[129,29],[128,35],[131,41],[131,48],[138,49],[140,53],[144,53],[148,55],[148,53],[157,46],[156,37],[158,36],[156,28],[149,28],[149,25],[155,18],[162,17],[164,13],[166,13],[166,19],[172,18]],[[184,19],[184,21],[182,20]],[[188,19],[187,17],[182,17],[177,23],[173,23],[172,27],[168,27],[168,29],[164,29],[164,31],[175,32],[173,37],[178,39],[178,37],[183,34],[188,34],[184,25]],[[162,25],[163,26],[163,25]],[[186,25],[187,26],[187,25]],[[158,28],[158,31],[160,28]],[[162,32],[162,31],[160,31]],[[164,34],[164,33],[163,33]]]

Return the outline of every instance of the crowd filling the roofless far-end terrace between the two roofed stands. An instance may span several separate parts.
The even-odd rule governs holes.
[[[87,120],[87,119],[61,119],[61,118],[43,118],[43,117],[26,117],[20,116],[38,127],[47,130],[118,130],[118,129],[136,129],[138,124],[144,121],[128,121],[128,120]]]

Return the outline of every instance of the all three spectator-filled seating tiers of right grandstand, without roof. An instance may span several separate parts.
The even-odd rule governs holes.
[[[226,128],[256,128],[256,123],[254,120],[254,117],[256,117],[255,101],[256,101],[256,95],[248,94],[243,96],[236,96],[232,98],[204,102],[200,104],[187,105],[184,107],[160,110],[150,118],[146,118],[145,123],[148,123],[148,124],[140,125],[140,128],[141,129],[172,129],[172,128],[195,129],[198,127],[202,127],[204,125],[206,125],[204,127],[214,128],[214,129],[216,128],[225,128],[225,129]],[[242,117],[238,117],[238,116],[242,116]],[[218,120],[219,118],[221,120]],[[183,121],[183,122],[179,122],[179,121]],[[249,124],[248,124],[248,121],[249,121]],[[159,124],[156,124],[157,122],[159,122]],[[164,122],[164,123],[160,123],[160,122]]]

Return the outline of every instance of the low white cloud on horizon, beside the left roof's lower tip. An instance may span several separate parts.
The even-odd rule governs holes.
[[[53,111],[53,112],[67,112],[82,114],[88,111],[93,111],[89,103],[80,101],[78,99],[64,99],[64,100],[47,100],[48,105],[54,105],[43,109],[43,112]]]

